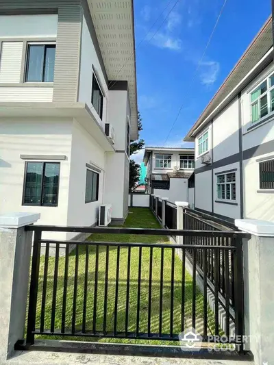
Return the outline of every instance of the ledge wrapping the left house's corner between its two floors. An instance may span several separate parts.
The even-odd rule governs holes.
[[[85,103],[0,103],[0,118],[75,118],[105,152],[114,147]],[[50,119],[49,119],[50,121]],[[53,124],[55,120],[53,119]]]

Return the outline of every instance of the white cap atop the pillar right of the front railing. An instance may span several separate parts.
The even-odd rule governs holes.
[[[235,225],[241,231],[254,236],[274,237],[274,223],[258,219],[235,219]]]

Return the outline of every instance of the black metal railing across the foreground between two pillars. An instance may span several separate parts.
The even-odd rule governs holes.
[[[193,275],[192,283],[189,281],[186,275],[188,252],[192,255],[193,273],[200,266],[201,270],[212,275],[216,303],[219,303],[221,285],[220,253],[225,253],[225,273],[230,270],[228,257],[231,254],[235,336],[244,335],[242,238],[247,234],[236,231],[38,225],[26,229],[34,231],[27,344],[34,344],[36,335],[177,341],[179,333],[189,322],[193,328],[197,327],[201,316],[203,323],[199,333],[203,341],[212,340],[212,333],[214,336],[220,334],[219,308],[216,305],[212,317],[206,295],[202,299],[197,288],[196,275]],[[48,240],[42,239],[43,231],[184,236],[185,242],[192,243]],[[224,239],[230,240],[231,244],[223,245]],[[208,244],[209,240],[216,244]],[[45,245],[45,256],[41,254],[41,244]],[[75,245],[72,253],[69,252],[71,245]],[[53,257],[49,257],[50,249],[54,251]],[[61,249],[65,251],[63,258],[60,257]],[[182,260],[179,260],[177,251],[181,253]],[[215,258],[213,270],[208,262],[208,257],[212,256]],[[204,292],[208,286],[207,278],[207,274],[203,275]],[[228,286],[226,275],[225,288]],[[227,336],[231,336],[229,310],[230,303],[226,300]],[[232,338],[231,342],[234,340]]]

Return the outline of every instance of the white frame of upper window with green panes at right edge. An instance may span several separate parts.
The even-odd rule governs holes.
[[[257,123],[264,121],[264,118],[268,118],[270,115],[274,114],[274,108],[273,110],[271,110],[271,92],[274,91],[274,83],[273,86],[271,86],[271,77],[274,77],[273,71],[271,71],[269,75],[261,79],[260,82],[258,82],[258,84],[256,84],[256,86],[249,91],[250,125],[252,127],[255,126]],[[266,91],[252,101],[251,100],[252,93],[256,91],[262,84],[264,84],[265,81],[266,81]],[[264,116],[260,116],[260,99],[262,99],[262,97],[264,96],[266,96],[267,98],[267,114]],[[259,117],[256,121],[252,121],[252,106],[255,105],[256,103],[258,103]]]

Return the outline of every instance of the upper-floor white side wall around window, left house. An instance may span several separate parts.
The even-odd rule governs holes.
[[[105,97],[103,99],[103,118],[102,120],[99,118],[95,108],[91,103],[91,95],[92,95],[92,64],[95,67],[98,75],[99,75],[99,84],[103,89]],[[104,125],[106,121],[106,114],[108,108],[108,85],[105,84],[105,79],[103,77],[103,72],[101,70],[100,62],[97,58],[97,53],[95,51],[95,47],[93,45],[90,32],[88,30],[88,25],[86,24],[86,19],[83,16],[83,25],[82,25],[82,46],[81,46],[81,66],[80,66],[80,75],[79,75],[79,102],[86,103],[88,108],[90,108],[92,114],[95,116],[97,122],[104,129]]]

